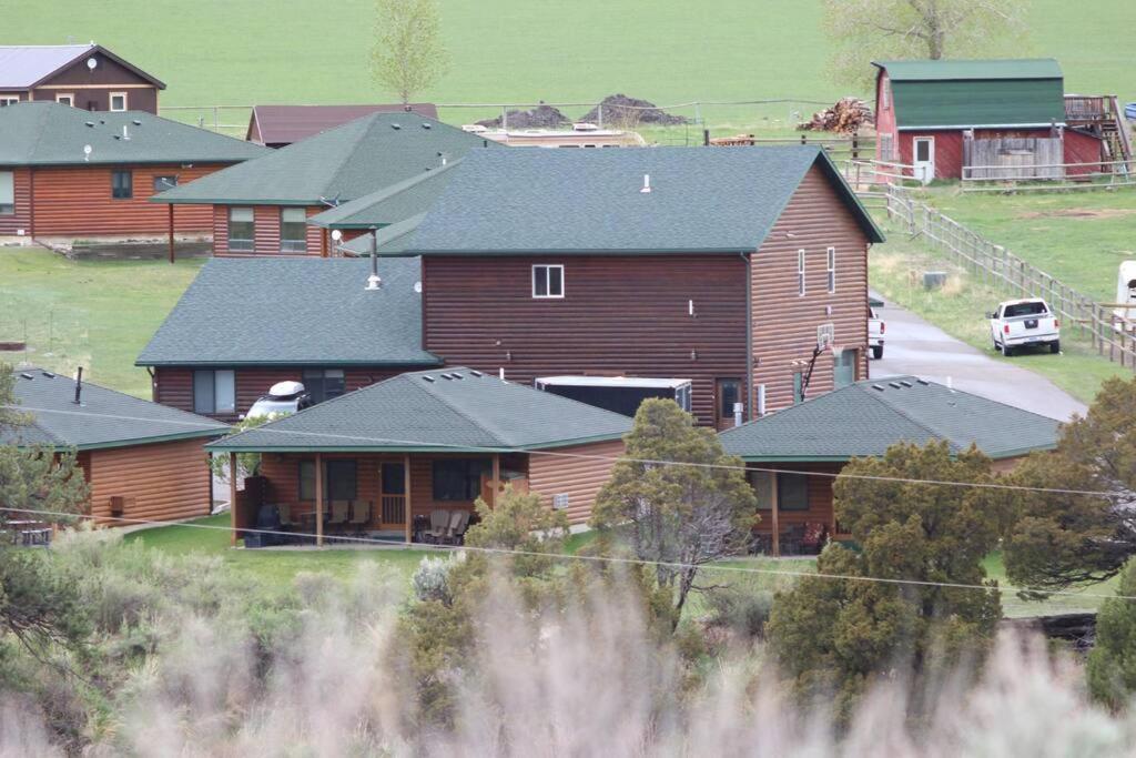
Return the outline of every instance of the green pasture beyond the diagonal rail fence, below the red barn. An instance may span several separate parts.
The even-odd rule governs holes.
[[[1069,286],[1112,302],[1117,267],[1136,258],[1136,189],[1014,195],[929,192],[930,205]]]

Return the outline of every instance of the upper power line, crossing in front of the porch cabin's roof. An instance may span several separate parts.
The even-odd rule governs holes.
[[[112,414],[92,414],[82,410],[59,410],[56,408],[28,408],[26,406],[3,406],[3,408],[12,410],[27,410],[33,413],[44,413],[44,414],[57,414],[66,416],[91,416],[94,418],[112,418],[117,420],[134,420],[134,422],[152,422],[153,419],[139,418],[135,416],[119,416]],[[169,419],[169,424],[181,424],[186,426],[200,427],[200,422],[193,420],[177,420]],[[770,474],[799,474],[803,476],[821,476],[825,478],[837,478],[844,477],[850,480],[862,480],[870,482],[894,482],[896,484],[926,484],[934,486],[954,486],[954,488],[972,488],[982,490],[1004,490],[1012,492],[1037,492],[1043,494],[1067,494],[1067,495],[1085,495],[1093,498],[1120,498],[1127,497],[1124,492],[1101,492],[1096,490],[1068,490],[1061,488],[1039,488],[1039,486],[1027,486],[1022,484],[1002,484],[997,482],[955,482],[949,480],[922,480],[916,477],[904,477],[904,476],[878,476],[871,474],[846,474],[843,472],[817,472],[817,470],[799,470],[793,468],[770,468],[761,466],[730,466],[726,464],[707,464],[698,461],[685,461],[685,460],[666,460],[666,459],[652,459],[652,458],[628,458],[625,456],[601,456],[595,453],[583,453],[583,452],[563,452],[561,450],[528,450],[525,448],[509,448],[509,447],[484,447],[484,445],[462,445],[448,442],[427,442],[423,440],[399,440],[394,438],[371,438],[371,436],[360,436],[351,434],[332,434],[328,432],[303,432],[303,431],[289,431],[289,430],[276,430],[270,426],[258,426],[251,430],[243,430],[237,433],[247,434],[249,432],[258,433],[275,433],[275,434],[289,434],[293,436],[308,436],[315,439],[331,439],[331,440],[350,440],[352,442],[370,442],[370,443],[383,443],[383,444],[403,444],[408,447],[429,447],[429,448],[443,448],[460,450],[462,452],[483,452],[483,453],[526,453],[529,456],[550,456],[559,458],[576,458],[585,460],[603,460],[603,461],[619,461],[625,460],[635,464],[643,464],[645,466],[690,466],[698,468],[711,468],[711,469],[722,469],[722,470],[753,470],[763,472]],[[236,436],[236,435],[234,435]],[[265,450],[264,452],[273,452],[273,450]],[[336,452],[350,452],[339,450]],[[366,450],[359,450],[358,452],[368,452]]]

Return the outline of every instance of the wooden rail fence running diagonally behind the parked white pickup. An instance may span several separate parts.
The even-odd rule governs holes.
[[[899,185],[887,188],[887,217],[1008,297],[1044,298],[1064,322],[1067,334],[1079,334],[1101,356],[1136,370],[1136,322],[1120,318],[1112,308],[916,200]]]

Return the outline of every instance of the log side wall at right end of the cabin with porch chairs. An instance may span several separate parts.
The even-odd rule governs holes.
[[[557,494],[568,495],[568,522],[586,524],[592,517],[595,497],[611,476],[611,467],[624,453],[623,440],[595,442],[528,457],[528,489],[541,495],[541,503],[551,508]],[[587,456],[575,458],[573,456]]]

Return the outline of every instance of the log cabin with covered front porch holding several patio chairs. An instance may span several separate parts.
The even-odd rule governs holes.
[[[410,542],[432,511],[491,506],[506,484],[570,523],[591,515],[632,420],[463,367],[402,374],[209,445],[261,453],[233,492],[233,539],[275,526]],[[265,524],[261,523],[260,526]]]

